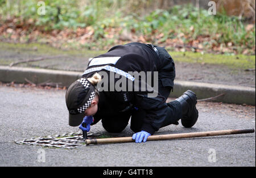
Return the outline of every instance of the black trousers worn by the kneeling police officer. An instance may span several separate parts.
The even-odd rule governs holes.
[[[159,61],[156,61],[158,69],[158,92],[159,95],[164,96],[166,99],[174,87],[175,79],[175,63],[166,49],[155,46],[158,49]],[[167,103],[168,112],[166,119],[162,123],[162,127],[176,124],[177,120],[181,118],[181,105],[178,101],[171,101]],[[143,118],[146,112],[143,109],[133,109],[132,111],[123,112],[118,116],[102,118],[102,126],[107,132],[120,133],[126,128],[131,118],[130,128],[133,132],[140,132],[143,124]]]

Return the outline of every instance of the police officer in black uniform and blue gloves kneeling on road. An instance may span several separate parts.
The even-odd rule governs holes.
[[[150,78],[131,75],[136,72]],[[179,124],[180,119],[185,128],[191,128],[198,118],[196,94],[188,90],[166,103],[174,79],[175,63],[164,48],[142,43],[114,46],[91,58],[82,77],[69,86],[65,96],[69,125],[80,125],[83,132],[89,132],[90,126],[101,120],[107,132],[119,133],[131,119],[135,142],[146,142],[149,135]]]

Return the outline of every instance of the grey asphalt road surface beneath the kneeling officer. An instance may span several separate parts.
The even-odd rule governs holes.
[[[53,149],[18,145],[23,138],[79,132],[68,126],[64,90],[0,85],[0,166],[255,166],[255,133],[217,137],[115,143]],[[255,129],[255,107],[197,104],[199,120],[193,128],[181,124],[155,134]],[[101,122],[93,132],[106,133]],[[121,133],[131,136],[129,126]],[[45,159],[38,159],[40,150]]]

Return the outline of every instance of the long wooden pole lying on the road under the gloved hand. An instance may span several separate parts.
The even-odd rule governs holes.
[[[232,135],[232,134],[245,134],[245,133],[254,133],[254,129],[217,130],[217,131],[209,131],[209,132],[152,135],[147,138],[147,141],[157,141],[157,140],[177,139],[177,138],[210,137],[210,136],[217,136],[217,135]],[[134,140],[132,137],[98,138],[98,139],[85,140],[86,145],[97,144],[97,143],[123,143],[123,142],[134,142]]]

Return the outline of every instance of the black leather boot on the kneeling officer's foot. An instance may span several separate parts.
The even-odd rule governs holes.
[[[196,124],[198,111],[196,109],[197,98],[196,94],[188,90],[184,92],[176,101],[179,101],[182,107],[181,124],[185,128],[191,128]]]

